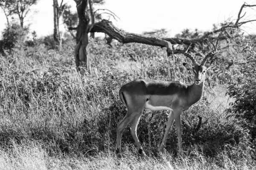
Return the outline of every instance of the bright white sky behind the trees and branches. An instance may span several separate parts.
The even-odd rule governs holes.
[[[73,0],[66,2],[76,10]],[[96,8],[114,12],[120,20],[116,21],[113,17],[110,20],[124,31],[141,34],[143,31],[165,28],[169,31],[169,37],[173,37],[185,28],[210,31],[213,24],[219,25],[228,18],[235,20],[244,2],[256,4],[255,0],[106,0],[105,5]],[[39,0],[25,18],[25,25],[30,24],[30,30],[35,30],[39,37],[53,33],[52,4],[52,0]],[[255,7],[245,8],[244,11],[245,19],[256,19]],[[6,18],[2,11],[0,21],[1,32],[6,27]],[[248,34],[256,34],[256,22],[247,23],[243,29]],[[64,31],[62,23],[61,30]]]

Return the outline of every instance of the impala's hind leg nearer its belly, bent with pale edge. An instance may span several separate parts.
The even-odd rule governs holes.
[[[138,147],[138,150],[139,150],[139,154],[142,155],[142,156],[145,156],[145,153],[141,147],[141,144],[140,144],[140,141],[138,139],[138,136],[137,136],[137,126],[140,122],[140,116],[141,114],[143,113],[143,110],[144,108],[142,109],[142,111],[140,111],[140,114],[138,114],[137,116],[135,116],[135,118],[133,119],[133,121],[131,122],[131,125],[130,125],[130,130],[131,130],[131,136],[133,137],[137,147]]]

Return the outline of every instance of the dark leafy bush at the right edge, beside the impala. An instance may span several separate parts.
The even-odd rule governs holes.
[[[247,127],[253,139],[256,138],[256,51],[252,41],[241,33],[240,43],[244,58],[231,56],[227,61],[229,71],[221,74],[228,83],[228,95],[235,99],[228,109],[230,116],[235,116],[243,127]],[[231,65],[234,65],[233,68]]]

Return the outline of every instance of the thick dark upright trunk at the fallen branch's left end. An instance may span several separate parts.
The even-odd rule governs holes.
[[[90,60],[86,50],[86,47],[88,45],[88,33],[90,22],[90,19],[86,13],[87,4],[88,0],[79,0],[76,6],[79,23],[76,31],[75,60],[76,68],[78,71],[80,71],[79,66],[84,64],[88,72],[90,73]]]

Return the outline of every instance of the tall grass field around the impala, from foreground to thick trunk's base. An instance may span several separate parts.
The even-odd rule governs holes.
[[[116,125],[126,114],[120,87],[142,78],[191,84],[192,74],[182,66],[190,61],[182,55],[166,57],[163,49],[148,45],[116,43],[108,48],[91,40],[93,75],[78,75],[68,66],[73,62],[70,49],[49,51],[40,45],[35,49],[26,49],[32,53],[17,49],[0,62],[0,168],[253,169],[256,165],[250,133],[236,119],[225,119],[228,104],[223,103],[228,102],[218,80],[220,61],[208,74],[211,83],[205,97],[183,113],[186,156],[177,155],[175,126],[164,155],[159,154],[168,112],[146,110],[138,137],[149,157],[137,157],[127,127],[122,136],[124,158],[117,160]]]

